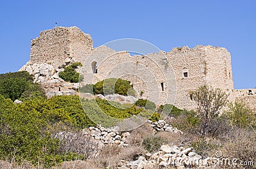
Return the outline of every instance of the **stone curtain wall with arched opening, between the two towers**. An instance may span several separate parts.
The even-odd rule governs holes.
[[[163,54],[134,55],[127,52],[115,52],[108,47],[97,48],[93,56],[84,62],[86,68],[83,72],[84,83],[95,84],[106,78],[123,78],[131,81],[139,93],[143,91],[142,98],[150,99],[157,105],[174,103],[175,75],[170,72],[168,78],[164,77],[164,66],[161,64]],[[105,58],[105,59],[104,59]],[[153,61],[154,60],[154,61]],[[92,62],[97,62],[98,72],[93,73]],[[93,79],[92,79],[93,77]],[[164,83],[164,91],[161,89]],[[168,82],[168,83],[167,83]],[[167,85],[172,84],[172,85]]]

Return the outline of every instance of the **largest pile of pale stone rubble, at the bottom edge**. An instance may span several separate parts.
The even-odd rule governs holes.
[[[136,161],[121,161],[119,168],[142,169],[142,168],[206,168],[211,159],[202,159],[202,156],[193,152],[193,148],[162,145],[160,151],[155,154],[147,153],[140,156]]]

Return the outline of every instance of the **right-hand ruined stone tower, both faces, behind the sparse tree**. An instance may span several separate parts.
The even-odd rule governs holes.
[[[198,45],[173,48],[166,55],[172,61],[177,80],[177,107],[194,108],[189,91],[204,84],[221,88],[234,101],[231,57],[226,48]]]

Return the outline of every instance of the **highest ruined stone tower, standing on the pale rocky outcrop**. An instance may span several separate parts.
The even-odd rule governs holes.
[[[30,61],[48,63],[54,68],[65,66],[66,62],[83,61],[92,51],[90,34],[84,34],[77,27],[55,27],[42,31],[31,40]]]

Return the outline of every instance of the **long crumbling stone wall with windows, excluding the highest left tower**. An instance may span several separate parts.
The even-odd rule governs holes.
[[[164,59],[168,59],[165,64]],[[94,75],[92,62],[98,63],[98,72]],[[179,108],[193,109],[196,105],[189,92],[204,84],[227,91],[230,94],[228,99],[234,100],[230,54],[225,48],[183,47],[173,48],[170,52],[131,57],[127,52],[100,47],[84,64],[88,68],[85,74],[94,77],[94,80],[85,78],[91,83],[111,77],[130,80],[138,92],[144,92],[142,98],[158,105],[172,103]]]

